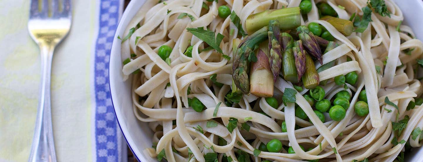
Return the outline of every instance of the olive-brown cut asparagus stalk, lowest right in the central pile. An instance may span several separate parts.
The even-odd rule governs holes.
[[[307,52],[305,53],[305,73],[302,76],[302,83],[307,89],[313,89],[319,85],[319,74],[316,71],[313,59]]]

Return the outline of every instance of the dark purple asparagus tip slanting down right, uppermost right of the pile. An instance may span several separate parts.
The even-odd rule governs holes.
[[[307,49],[307,52],[317,58],[320,64],[323,64],[321,60],[321,50],[317,44],[316,38],[314,38],[314,34],[304,25],[297,27],[297,33],[305,49]]]

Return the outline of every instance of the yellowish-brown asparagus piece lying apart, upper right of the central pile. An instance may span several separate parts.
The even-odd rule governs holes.
[[[350,36],[351,33],[354,31],[354,25],[349,20],[340,19],[332,16],[323,16],[320,19],[329,22],[333,27],[336,28],[336,30],[338,30],[345,36]]]

